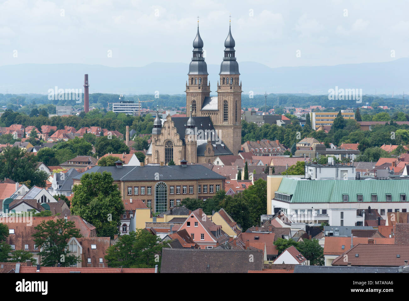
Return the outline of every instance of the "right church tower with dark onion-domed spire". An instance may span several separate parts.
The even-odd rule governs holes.
[[[213,121],[221,139],[237,155],[241,147],[241,82],[234,50],[235,42],[229,34],[225,40],[225,55],[220,65],[220,82],[217,85],[218,118]]]

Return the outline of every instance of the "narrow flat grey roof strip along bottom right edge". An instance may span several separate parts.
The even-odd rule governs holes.
[[[398,267],[320,267],[296,265],[294,273],[399,273]]]

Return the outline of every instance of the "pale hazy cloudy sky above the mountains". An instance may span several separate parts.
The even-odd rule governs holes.
[[[0,1],[0,66],[189,63],[197,16],[206,61],[220,64],[229,14],[238,62],[391,61],[409,57],[408,11],[405,0]]]

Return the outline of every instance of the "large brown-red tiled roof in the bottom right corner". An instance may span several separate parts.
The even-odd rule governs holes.
[[[335,258],[332,265],[399,267],[408,259],[409,244],[357,244]]]

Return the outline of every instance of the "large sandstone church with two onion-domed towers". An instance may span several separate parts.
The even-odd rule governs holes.
[[[171,118],[168,115],[161,120],[156,113],[145,164],[167,164],[170,161],[176,165],[181,162],[212,163],[217,156],[238,154],[241,147],[242,89],[234,46],[229,25],[217,96],[211,97],[198,25],[186,82],[187,117]]]

